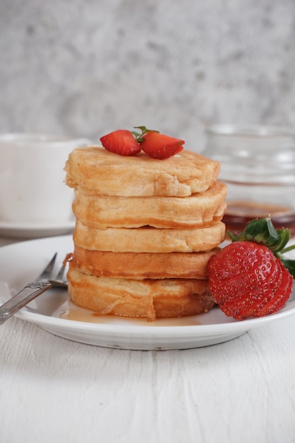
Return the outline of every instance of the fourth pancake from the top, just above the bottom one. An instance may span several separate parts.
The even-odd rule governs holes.
[[[219,248],[199,253],[114,253],[75,245],[73,260],[81,272],[98,277],[207,280],[209,258],[217,251]]]

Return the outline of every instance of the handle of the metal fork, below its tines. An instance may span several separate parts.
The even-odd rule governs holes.
[[[51,287],[52,284],[47,280],[28,283],[18,294],[0,306],[0,324]]]

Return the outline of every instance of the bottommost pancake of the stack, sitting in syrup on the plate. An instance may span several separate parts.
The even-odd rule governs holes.
[[[204,313],[215,304],[208,280],[96,277],[83,274],[73,261],[67,277],[71,301],[100,315],[146,317],[153,321]]]

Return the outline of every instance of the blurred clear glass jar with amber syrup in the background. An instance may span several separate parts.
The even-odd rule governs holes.
[[[241,231],[256,217],[272,217],[295,234],[295,130],[213,125],[202,153],[221,163],[228,185],[226,228]]]

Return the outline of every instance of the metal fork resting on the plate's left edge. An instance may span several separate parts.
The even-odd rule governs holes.
[[[13,316],[13,314],[18,312],[21,308],[23,308],[23,306],[48,289],[51,289],[52,287],[68,287],[66,280],[64,280],[64,264],[62,264],[62,267],[59,269],[57,275],[52,278],[56,258],[57,253],[53,255],[50,263],[48,263],[45,270],[41,272],[36,280],[26,284],[25,287],[18,292],[18,294],[0,306],[0,324],[4,323],[4,321]]]

